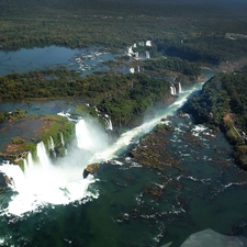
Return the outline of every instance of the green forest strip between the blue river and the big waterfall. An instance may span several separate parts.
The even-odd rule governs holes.
[[[4,101],[67,99],[89,102],[112,116],[115,125],[134,124],[154,102],[170,98],[170,83],[145,74],[92,75],[81,78],[74,70],[37,70],[0,78]],[[3,113],[2,113],[3,114]]]

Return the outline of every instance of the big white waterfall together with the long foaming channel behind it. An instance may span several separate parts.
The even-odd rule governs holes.
[[[37,157],[33,159],[31,154],[27,155],[24,172],[15,165],[0,166],[0,171],[13,178],[14,190],[18,192],[11,198],[7,207],[8,213],[21,215],[29,211],[37,211],[47,203],[67,204],[89,195],[98,197],[88,191],[88,186],[94,182],[94,178],[89,176],[82,179],[83,168],[90,162],[116,157],[127,148],[133,138],[139,138],[148,133],[161,117],[175,114],[187,98],[201,87],[202,83],[198,83],[183,90],[173,104],[157,112],[156,117],[150,121],[122,134],[111,146],[108,146],[104,130],[100,130],[91,120],[79,120],[76,124],[77,148],[68,151],[67,156],[59,159],[56,165],[48,158],[45,145],[38,143]]]

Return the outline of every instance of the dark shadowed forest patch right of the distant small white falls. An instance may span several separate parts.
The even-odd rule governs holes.
[[[224,34],[194,36],[182,40],[182,43],[165,41],[158,44],[158,50],[191,61],[220,65],[246,57],[247,38],[229,40]]]

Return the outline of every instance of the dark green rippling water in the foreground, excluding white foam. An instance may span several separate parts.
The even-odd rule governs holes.
[[[232,147],[221,133],[194,128],[188,117],[175,117],[171,125],[176,131],[166,148],[182,171],[153,170],[123,155],[122,165],[101,166],[89,188],[98,199],[1,216],[1,246],[180,246],[205,228],[247,236],[247,175],[233,162]],[[194,142],[188,142],[190,136]],[[161,195],[151,197],[150,187]]]

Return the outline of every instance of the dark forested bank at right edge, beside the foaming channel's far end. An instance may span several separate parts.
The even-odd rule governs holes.
[[[235,146],[235,158],[247,169],[247,66],[239,71],[218,74],[192,97],[183,111],[197,123],[222,128]]]

